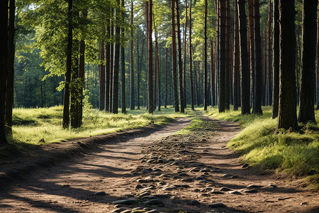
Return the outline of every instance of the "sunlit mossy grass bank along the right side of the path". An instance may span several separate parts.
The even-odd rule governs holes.
[[[279,131],[274,133],[277,119],[272,119],[270,107],[263,108],[263,115],[241,116],[240,111],[218,113],[211,109],[208,116],[237,121],[243,130],[228,147],[242,153],[242,160],[266,170],[275,170],[304,177],[309,187],[319,188],[319,125],[301,126],[299,133]],[[315,111],[319,123],[319,111]]]

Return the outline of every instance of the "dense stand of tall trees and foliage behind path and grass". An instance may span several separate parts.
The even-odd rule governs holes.
[[[81,126],[83,106],[112,113],[118,108],[125,113],[127,106],[146,107],[152,113],[167,105],[181,112],[194,105],[204,110],[218,106],[222,112],[231,105],[241,107],[242,114],[262,114],[262,105],[273,105],[276,117],[281,111],[296,114],[300,99],[306,106],[301,112],[312,109],[298,120],[315,122],[311,113],[319,102],[318,1],[3,4],[9,17],[6,107],[11,114],[12,107],[63,104],[62,125],[68,128]],[[289,85],[282,86],[285,82]],[[286,105],[280,107],[279,99]],[[297,118],[281,121],[279,128],[298,129]]]

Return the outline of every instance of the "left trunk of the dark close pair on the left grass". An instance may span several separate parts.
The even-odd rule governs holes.
[[[65,72],[65,95],[64,95],[64,102],[63,102],[63,121],[62,121],[62,126],[65,129],[69,128],[69,84],[71,82],[71,72],[72,72],[72,42],[73,42],[72,10],[73,10],[73,0],[68,0],[67,70]]]

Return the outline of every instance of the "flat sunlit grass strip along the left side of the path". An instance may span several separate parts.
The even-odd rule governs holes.
[[[17,148],[61,143],[74,138],[138,129],[149,124],[166,124],[174,118],[184,116],[174,113],[172,107],[162,108],[162,111],[155,111],[154,114],[145,113],[146,109],[128,110],[127,114],[108,114],[97,109],[84,109],[81,128],[63,129],[62,111],[62,106],[13,109],[13,138],[9,138],[10,143]]]

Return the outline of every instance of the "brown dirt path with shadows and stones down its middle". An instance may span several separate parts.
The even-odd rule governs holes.
[[[319,212],[318,191],[226,148],[238,124],[196,116],[2,159],[0,212]]]

